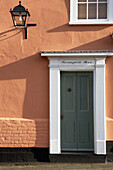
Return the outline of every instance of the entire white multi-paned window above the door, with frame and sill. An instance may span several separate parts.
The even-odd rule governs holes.
[[[70,24],[112,24],[113,0],[70,0]]]

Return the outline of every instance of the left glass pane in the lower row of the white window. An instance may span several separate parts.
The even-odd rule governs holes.
[[[86,4],[79,4],[78,5],[78,19],[86,19],[87,14],[87,5]]]

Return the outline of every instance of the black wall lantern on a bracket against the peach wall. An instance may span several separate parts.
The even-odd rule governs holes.
[[[10,13],[12,16],[14,26],[16,28],[25,29],[25,39],[27,39],[27,27],[36,26],[36,24],[28,24],[28,20],[30,17],[28,9],[25,9],[25,7],[21,5],[21,1],[19,1],[19,5],[15,6],[13,10],[10,9]]]

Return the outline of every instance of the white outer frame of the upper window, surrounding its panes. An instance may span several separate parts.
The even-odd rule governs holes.
[[[70,25],[113,24],[113,0],[107,0],[107,19],[78,19],[78,0],[70,0]]]

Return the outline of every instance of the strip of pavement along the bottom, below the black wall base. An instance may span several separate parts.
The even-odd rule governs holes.
[[[0,170],[113,170],[113,164],[70,164],[70,163],[40,163],[37,165],[7,165]]]

